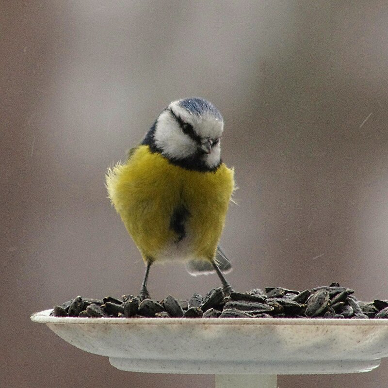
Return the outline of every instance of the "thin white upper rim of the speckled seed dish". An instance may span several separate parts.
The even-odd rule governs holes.
[[[77,318],[51,317],[51,311],[52,308],[36,312],[32,314],[31,320],[48,324],[388,326],[386,318]]]

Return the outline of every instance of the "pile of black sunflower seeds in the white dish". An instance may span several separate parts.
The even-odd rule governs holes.
[[[108,296],[102,300],[75,299],[55,306],[55,317],[117,318],[388,318],[388,300],[361,302],[355,291],[338,283],[311,290],[294,291],[266,287],[232,292],[225,296],[222,288],[211,289],[205,297],[194,293],[189,300],[168,295],[162,301],[140,300],[133,295],[122,299]]]

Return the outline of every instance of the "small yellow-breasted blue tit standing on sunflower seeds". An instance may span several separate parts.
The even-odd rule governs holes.
[[[128,159],[108,168],[108,197],[146,264],[183,261],[191,275],[216,273],[225,295],[231,269],[218,242],[231,201],[234,169],[221,160],[224,119],[209,101],[171,102]]]

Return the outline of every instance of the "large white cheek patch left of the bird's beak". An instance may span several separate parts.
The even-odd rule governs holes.
[[[163,155],[170,158],[187,158],[197,148],[194,140],[182,132],[177,120],[168,111],[158,118],[154,140]]]

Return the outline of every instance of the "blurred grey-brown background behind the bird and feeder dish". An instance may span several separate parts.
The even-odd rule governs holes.
[[[29,318],[139,289],[104,174],[180,97],[224,115],[236,289],[388,299],[386,1],[2,1],[0,17],[1,387],[213,387],[118,371]],[[171,264],[149,279],[156,299],[218,285]],[[387,367],[278,384],[384,387]]]

